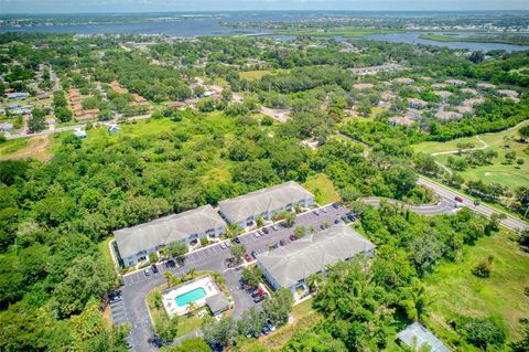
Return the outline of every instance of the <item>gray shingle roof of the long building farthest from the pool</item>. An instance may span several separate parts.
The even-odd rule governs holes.
[[[287,204],[296,203],[314,195],[295,183],[289,181],[268,189],[262,189],[231,200],[218,203],[220,213],[230,222],[241,222],[249,216],[273,211]]]

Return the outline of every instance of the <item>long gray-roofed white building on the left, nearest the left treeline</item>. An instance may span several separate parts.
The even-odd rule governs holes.
[[[199,238],[217,237],[226,223],[212,207],[201,206],[114,232],[119,257],[125,267],[136,265],[173,242],[194,244]]]

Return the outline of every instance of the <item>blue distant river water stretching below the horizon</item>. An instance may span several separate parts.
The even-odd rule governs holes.
[[[33,25],[33,26],[3,26],[0,32],[58,32],[58,33],[77,33],[77,34],[166,34],[171,36],[193,38],[206,35],[236,35],[270,32],[268,29],[244,28],[234,29],[220,25],[220,22],[284,22],[298,20],[311,20],[328,15],[346,15],[347,12],[278,12],[278,11],[256,11],[256,12],[228,12],[228,13],[202,13],[197,17],[190,14],[177,15],[176,19],[170,21],[137,21],[126,23],[94,23],[94,24],[64,24],[64,25]],[[355,12],[352,15],[380,15],[380,12]],[[392,15],[397,15],[392,13]],[[417,17],[417,13],[399,13],[400,17]],[[424,15],[431,15],[425,13]],[[420,39],[419,35],[424,33],[407,32],[395,34],[374,34],[364,39],[382,40],[397,43],[409,44],[430,44],[445,46],[450,49],[467,49],[471,51],[492,51],[505,50],[523,51],[529,50],[528,45],[509,45],[499,43],[473,43],[473,42],[436,42]],[[280,40],[289,40],[293,36],[288,35],[270,35]],[[344,40],[337,38],[337,40]]]

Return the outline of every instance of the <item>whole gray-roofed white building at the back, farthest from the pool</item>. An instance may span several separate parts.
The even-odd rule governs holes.
[[[268,189],[251,192],[218,203],[220,215],[230,224],[240,228],[252,225],[258,217],[271,220],[273,215],[294,206],[310,206],[314,195],[295,183],[289,181]]]

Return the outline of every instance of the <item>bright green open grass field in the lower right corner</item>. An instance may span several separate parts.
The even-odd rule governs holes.
[[[460,263],[442,264],[425,279],[432,297],[427,324],[441,340],[452,343],[458,340],[446,323],[457,314],[501,317],[509,340],[519,339],[518,320],[529,316],[529,299],[523,294],[529,286],[529,255],[511,236],[511,233],[501,232],[481,238],[474,247],[464,248]],[[474,276],[472,268],[488,256],[494,256],[490,277]]]

